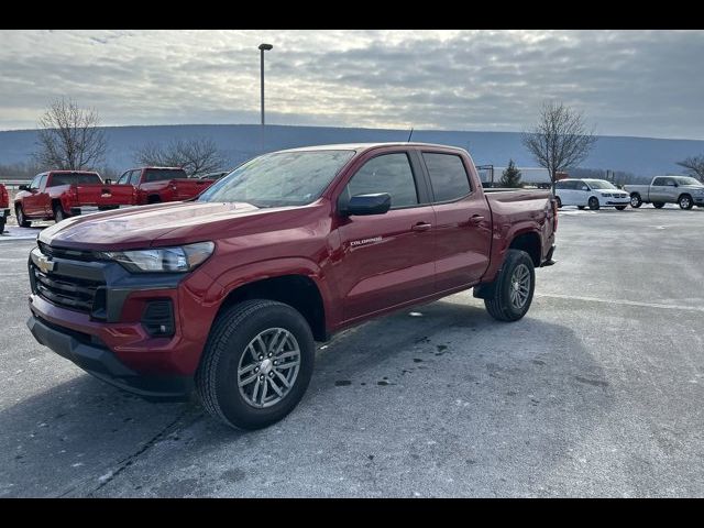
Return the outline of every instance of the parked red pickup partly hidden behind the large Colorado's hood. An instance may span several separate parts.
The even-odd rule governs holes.
[[[180,167],[142,167],[125,170],[118,184],[132,184],[138,204],[189,200],[206,190],[215,179],[189,178]]]

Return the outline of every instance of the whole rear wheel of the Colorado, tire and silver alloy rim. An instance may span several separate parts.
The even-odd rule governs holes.
[[[528,312],[536,288],[532,258],[525,251],[508,250],[504,266],[488,286],[484,306],[499,321],[517,321]]]

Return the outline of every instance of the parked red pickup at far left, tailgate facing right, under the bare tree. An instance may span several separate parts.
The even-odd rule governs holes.
[[[14,197],[18,224],[32,220],[55,220],[82,212],[117,209],[136,205],[131,185],[109,185],[98,173],[88,170],[50,170],[37,174],[30,185],[21,185]]]

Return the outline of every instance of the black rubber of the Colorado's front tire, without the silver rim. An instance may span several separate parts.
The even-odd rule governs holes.
[[[239,369],[241,361],[249,359],[249,355],[243,356],[250,353],[250,343],[267,329],[284,329],[295,338],[299,349],[299,365],[293,378],[293,385],[284,392],[277,403],[270,407],[254,407],[241,394],[244,388],[239,387]],[[271,351],[271,349],[267,350]],[[196,373],[198,395],[208,413],[235,429],[251,430],[271,426],[288,415],[304,396],[312,374],[315,352],[312,332],[308,322],[290,306],[266,299],[240,302],[221,314],[212,326]],[[260,363],[260,366],[263,364]],[[272,369],[271,363],[267,367]],[[265,372],[264,367],[260,372]],[[273,376],[273,374],[270,375]],[[270,389],[267,383],[273,385],[273,382],[262,377],[262,374],[254,377],[263,378],[267,389]],[[260,382],[255,381],[255,383],[258,387]],[[256,400],[256,388],[253,388],[253,392]],[[261,393],[264,393],[264,389],[260,392],[260,396]]]

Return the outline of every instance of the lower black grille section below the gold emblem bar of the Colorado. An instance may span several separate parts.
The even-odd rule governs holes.
[[[96,292],[105,283],[65,275],[46,274],[32,265],[36,293],[50,302],[73,310],[90,312],[94,308]]]

